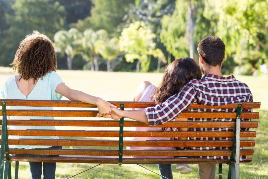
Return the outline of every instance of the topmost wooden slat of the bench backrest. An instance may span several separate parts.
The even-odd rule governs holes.
[[[86,108],[95,108],[96,105],[83,103],[80,101],[49,101],[49,100],[7,100],[0,99],[1,101],[6,101],[8,106],[38,106],[38,107],[86,107]],[[110,103],[120,107],[120,101],[109,101]],[[125,108],[146,108],[155,106],[154,102],[133,102],[133,101],[122,101],[125,103]],[[260,102],[241,102],[242,108],[260,108]],[[2,104],[0,104],[2,105]],[[189,108],[204,108],[204,105],[199,105],[197,103],[192,104]],[[206,108],[237,108],[237,103],[221,105],[221,106],[206,106]]]

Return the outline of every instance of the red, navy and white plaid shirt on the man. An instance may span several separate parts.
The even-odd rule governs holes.
[[[164,103],[145,108],[149,125],[163,124],[180,115],[182,111],[234,111],[235,109],[187,109],[194,102],[201,105],[219,106],[253,101],[249,87],[231,75],[221,77],[204,75],[202,79],[189,81],[184,90],[174,94]],[[252,111],[252,109],[242,109]],[[188,119],[202,121],[231,121],[233,119]],[[242,119],[250,120],[250,119]],[[233,128],[188,128],[189,131],[233,131]],[[242,128],[241,130],[249,130]],[[232,140],[233,138],[190,138],[190,140]],[[190,149],[226,149],[228,147],[191,147]],[[231,147],[230,147],[231,148]],[[203,156],[210,159],[230,159],[230,156]],[[242,160],[245,156],[242,156]],[[240,160],[241,160],[240,159]]]

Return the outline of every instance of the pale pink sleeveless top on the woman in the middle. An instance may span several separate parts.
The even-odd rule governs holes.
[[[152,90],[154,85],[148,86],[142,94],[139,101],[150,101]],[[161,131],[161,127],[131,127],[132,131],[147,131],[158,130]],[[170,130],[170,128],[168,128]],[[126,137],[125,140],[172,140],[171,137]],[[176,147],[126,147],[126,149],[147,149],[147,150],[175,150]],[[174,158],[174,156],[132,156],[133,158]]]

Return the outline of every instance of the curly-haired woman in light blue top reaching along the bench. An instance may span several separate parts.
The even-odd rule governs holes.
[[[78,90],[70,89],[55,72],[57,58],[52,41],[37,31],[27,35],[17,49],[13,61],[13,70],[17,75],[8,78],[1,94],[5,99],[60,100],[62,96],[69,100],[78,100],[98,106],[102,115],[111,114],[110,107],[116,107],[102,98],[91,96]],[[13,107],[24,109],[25,107]],[[52,109],[50,107],[28,107],[28,109]],[[12,109],[12,107],[10,107]],[[16,116],[10,117],[17,119]],[[35,117],[36,118],[36,117]],[[20,117],[22,119],[22,117]],[[32,119],[30,117],[24,119]],[[53,119],[40,117],[39,119]],[[10,126],[10,129],[55,129],[54,126]],[[10,136],[10,138],[29,138],[29,136]],[[32,138],[58,138],[57,136],[32,136]],[[61,146],[16,145],[11,148],[61,148]],[[18,154],[14,154],[18,155]],[[40,156],[40,155],[24,155]],[[50,156],[50,155],[47,155]],[[42,175],[42,162],[29,162],[31,178],[39,179]],[[44,179],[55,178],[56,163],[43,162]]]

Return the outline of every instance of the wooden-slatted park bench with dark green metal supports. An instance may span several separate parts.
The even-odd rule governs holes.
[[[126,108],[154,106],[151,102],[111,102]],[[129,127],[148,127],[148,124],[128,119],[112,120],[95,117],[96,106],[79,101],[41,100],[1,100],[1,179],[11,178],[10,162],[16,162],[15,178],[18,178],[18,162],[64,162],[96,164],[176,164],[176,163],[218,163],[219,178],[222,178],[221,165],[229,164],[228,178],[239,178],[239,160],[234,156],[252,156],[256,137],[255,131],[241,131],[240,127],[258,127],[256,121],[241,121],[240,118],[258,119],[258,112],[241,112],[241,108],[260,108],[259,102],[234,103],[224,106],[204,106],[193,104],[190,108],[233,108],[235,112],[183,112],[179,118],[233,118],[232,122],[213,121],[170,121],[161,126],[151,127],[230,127],[234,131],[131,131]],[[25,106],[25,109],[7,109],[7,106]],[[30,110],[31,106],[53,107],[53,110]],[[58,108],[59,107],[59,108]],[[93,109],[92,109],[93,108]],[[94,109],[95,108],[95,109]],[[54,120],[7,119],[7,116],[55,116]],[[69,118],[72,117],[72,118]],[[56,126],[56,130],[18,130],[8,126]],[[71,127],[73,126],[73,128]],[[60,128],[60,129],[57,129]],[[71,129],[72,128],[72,129]],[[83,128],[83,130],[81,129]],[[9,139],[15,136],[59,136],[59,139]],[[234,140],[124,140],[123,137],[234,137]],[[95,138],[94,138],[95,137]],[[246,138],[246,139],[242,139]],[[16,149],[9,145],[61,145],[62,149]],[[98,146],[98,149],[96,149]],[[232,147],[222,150],[126,150],[125,146],[186,146],[186,147]],[[95,148],[94,148],[95,147]],[[99,147],[101,147],[99,149]],[[240,147],[244,147],[240,149]],[[20,157],[10,154],[59,155],[59,157]],[[132,158],[131,156],[188,156],[189,158]],[[231,156],[231,160],[196,158],[195,156]],[[5,173],[4,169],[5,163]],[[240,163],[251,162],[247,158]],[[236,167],[235,167],[236,165]]]

